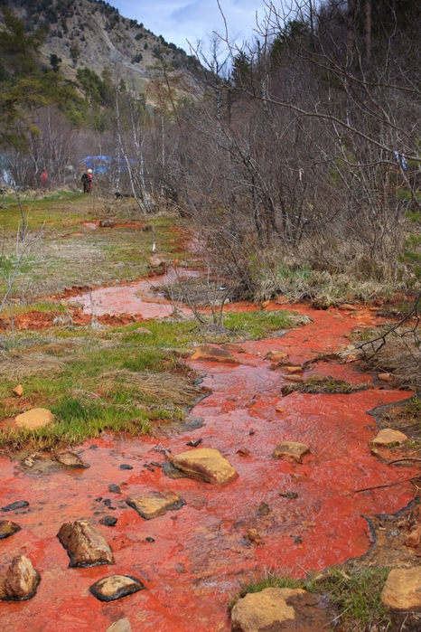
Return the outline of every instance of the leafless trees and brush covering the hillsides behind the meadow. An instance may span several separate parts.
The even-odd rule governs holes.
[[[142,213],[170,205],[189,216],[210,268],[232,279],[236,297],[283,290],[318,296],[323,306],[338,284],[360,297],[374,296],[376,283],[390,291],[416,285],[415,0],[330,0],[317,8],[303,0],[288,15],[273,5],[256,41],[231,48],[231,65],[222,69],[218,57],[202,60],[207,68],[194,66],[196,82],[177,70],[181,52],[107,4],[36,6],[14,8],[23,41],[39,53],[33,76],[52,77],[53,93],[51,82],[45,93],[41,83],[36,98],[22,94],[16,105],[23,70],[14,63],[23,51],[7,50],[10,24],[0,41],[15,110],[4,160],[17,184],[36,185],[46,168],[54,185],[74,185],[84,156],[107,156],[104,192],[133,195]],[[87,15],[102,24],[95,46]],[[154,41],[147,53],[154,79],[140,85],[133,60],[95,65],[96,48],[102,60],[109,53],[106,40],[126,59]],[[80,56],[71,57],[76,45]],[[371,285],[356,289],[350,279]]]

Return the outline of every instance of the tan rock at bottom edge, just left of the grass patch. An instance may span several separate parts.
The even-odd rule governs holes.
[[[248,593],[232,608],[232,623],[241,632],[259,632],[266,627],[270,629],[269,626],[280,629],[284,621],[295,619],[295,609],[287,605],[287,599],[304,594],[305,590],[289,588],[267,588]]]

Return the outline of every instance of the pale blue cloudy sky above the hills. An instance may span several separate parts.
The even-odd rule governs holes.
[[[195,47],[212,31],[224,33],[217,0],[108,0],[124,17],[143,23],[155,35],[163,35],[190,52],[187,40]],[[250,40],[258,19],[265,14],[264,0],[220,0],[229,26],[229,37],[237,42]]]

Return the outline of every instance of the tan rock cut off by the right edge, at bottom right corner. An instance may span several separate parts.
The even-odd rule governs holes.
[[[421,567],[390,571],[381,592],[381,603],[393,610],[421,608]]]

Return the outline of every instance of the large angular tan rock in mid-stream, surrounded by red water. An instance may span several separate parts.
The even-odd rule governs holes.
[[[226,486],[239,475],[220,452],[213,448],[196,448],[171,457],[173,466],[191,478],[216,486]]]

